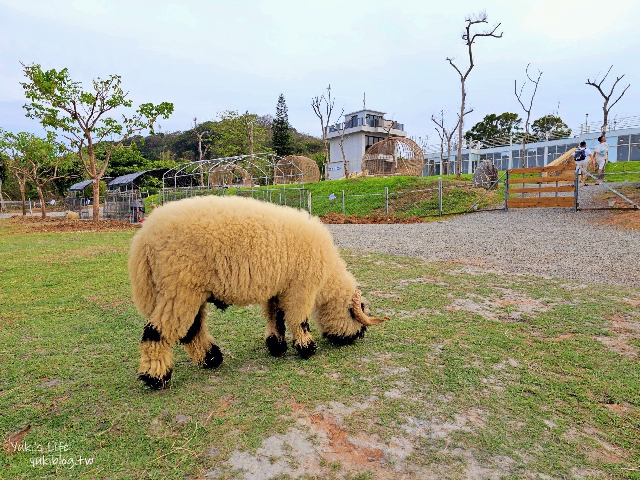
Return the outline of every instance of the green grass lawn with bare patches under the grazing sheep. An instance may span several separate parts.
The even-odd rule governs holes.
[[[135,231],[0,222],[0,478],[242,478],[238,458],[278,480],[640,478],[638,289],[343,252],[391,321],[346,348],[316,338],[300,360],[268,356],[259,308],[212,311],[223,366],[176,347],[171,388],[151,392],[136,379]],[[326,453],[274,452],[296,435]],[[12,439],[93,463],[33,466],[42,454]]]

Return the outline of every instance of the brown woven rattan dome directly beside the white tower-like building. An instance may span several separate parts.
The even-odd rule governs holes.
[[[390,137],[374,143],[362,157],[362,172],[372,177],[388,175],[419,176],[424,167],[424,152],[413,140]]]

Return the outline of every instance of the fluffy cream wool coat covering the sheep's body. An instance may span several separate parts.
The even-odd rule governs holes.
[[[211,296],[234,305],[278,296],[285,312],[302,312],[338,299],[347,305],[356,289],[321,221],[237,196],[155,210],[132,241],[129,272],[140,314],[174,338]]]

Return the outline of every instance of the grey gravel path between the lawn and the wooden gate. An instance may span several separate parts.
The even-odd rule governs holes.
[[[580,190],[585,204],[604,187]],[[510,209],[409,225],[327,225],[346,248],[640,287],[640,232],[596,225],[603,211]]]

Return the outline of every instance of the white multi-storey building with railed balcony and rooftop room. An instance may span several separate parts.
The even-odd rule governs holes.
[[[330,141],[331,163],[326,175],[327,179],[335,180],[344,177],[340,133],[344,138],[342,147],[349,173],[362,171],[362,157],[367,148],[374,143],[385,140],[387,136],[406,137],[403,124],[395,120],[387,120],[384,116],[384,112],[364,109],[345,113],[344,122],[328,127],[326,136]]]

